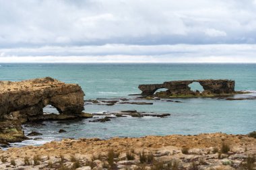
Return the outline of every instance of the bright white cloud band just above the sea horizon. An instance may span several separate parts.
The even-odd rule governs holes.
[[[256,44],[5,48],[0,62],[256,62]]]

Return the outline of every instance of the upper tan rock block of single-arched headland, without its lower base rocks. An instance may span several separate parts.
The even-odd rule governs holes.
[[[2,120],[14,113],[22,118],[41,115],[48,104],[57,108],[60,114],[80,114],[84,110],[84,92],[79,85],[65,84],[50,77],[20,82],[0,81]]]

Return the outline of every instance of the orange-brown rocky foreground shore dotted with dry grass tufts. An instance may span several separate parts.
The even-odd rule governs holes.
[[[0,151],[0,169],[255,169],[256,132],[63,139]]]

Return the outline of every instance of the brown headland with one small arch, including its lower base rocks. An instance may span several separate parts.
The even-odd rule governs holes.
[[[81,116],[84,91],[79,85],[66,84],[51,77],[27,81],[0,81],[0,142],[26,139],[21,124],[59,116],[44,116],[43,108],[53,105],[64,117]],[[57,119],[58,119],[57,118]]]

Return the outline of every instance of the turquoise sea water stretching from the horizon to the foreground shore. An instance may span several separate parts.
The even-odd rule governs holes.
[[[0,64],[0,80],[20,81],[37,77],[54,77],[66,83],[77,83],[85,99],[128,97],[140,93],[143,83],[185,79],[232,79],[236,90],[256,90],[256,65],[253,64]],[[197,89],[197,85],[193,87]],[[199,88],[199,87],[198,87]],[[250,95],[256,95],[253,92]],[[20,144],[42,144],[61,138],[111,138],[113,136],[146,136],[225,132],[247,134],[256,130],[256,100],[179,99],[182,103],[154,101],[154,105],[85,105],[85,112],[118,110],[170,113],[168,118],[117,118],[98,123],[88,120],[44,122],[46,125],[24,127],[42,132],[42,140]],[[59,134],[59,129],[67,130]],[[20,144],[18,144],[20,146]]]

